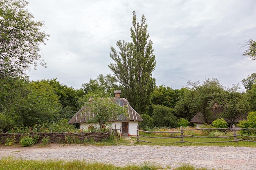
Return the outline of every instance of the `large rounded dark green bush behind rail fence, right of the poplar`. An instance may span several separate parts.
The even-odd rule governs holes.
[[[153,124],[158,127],[176,127],[177,118],[173,115],[174,109],[162,105],[153,106]]]

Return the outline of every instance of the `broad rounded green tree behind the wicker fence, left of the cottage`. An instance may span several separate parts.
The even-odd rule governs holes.
[[[15,109],[24,126],[33,126],[56,121],[60,117],[61,104],[52,86],[38,81],[23,89]]]

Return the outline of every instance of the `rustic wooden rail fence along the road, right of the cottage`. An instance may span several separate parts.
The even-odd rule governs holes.
[[[189,130],[220,130],[220,131],[231,131],[233,132],[232,135],[228,136],[195,136],[195,135],[184,135],[185,131]],[[233,124],[232,128],[197,128],[197,129],[183,129],[183,127],[180,127],[180,131],[145,131],[145,130],[139,130],[139,126],[137,126],[137,141],[141,142],[147,142],[147,143],[158,143],[159,142],[153,142],[153,141],[144,141],[144,140],[139,140],[139,137],[145,137],[145,138],[158,138],[158,139],[168,139],[168,138],[180,138],[180,141],[175,141],[171,143],[195,143],[195,144],[203,144],[203,143],[223,143],[223,142],[238,142],[238,141],[249,141],[249,142],[256,142],[255,140],[247,140],[247,139],[256,139],[256,136],[250,136],[250,135],[239,135],[236,132],[238,130],[256,130],[256,129],[247,129],[247,128],[236,128],[235,125]],[[145,136],[145,135],[139,135],[139,132],[144,132],[144,133],[154,133],[154,134],[162,134],[162,133],[169,133],[171,134],[170,137],[157,137],[156,136]],[[173,134],[180,134],[178,136],[175,136]],[[173,135],[173,136],[172,136]],[[192,142],[192,141],[186,141],[184,138],[188,137],[194,137],[194,138],[234,138],[234,140],[229,140],[229,141],[204,141],[204,142]],[[239,138],[246,138],[246,139],[239,139]],[[162,143],[166,144],[166,143]]]

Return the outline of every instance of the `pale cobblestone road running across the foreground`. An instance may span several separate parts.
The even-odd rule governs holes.
[[[175,168],[180,163],[222,170],[255,170],[256,148],[219,146],[82,146],[51,144],[18,147],[0,146],[0,158],[81,159],[112,163],[117,166],[144,162]]]

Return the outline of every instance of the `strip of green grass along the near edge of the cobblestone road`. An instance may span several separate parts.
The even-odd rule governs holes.
[[[164,168],[150,163],[141,165],[128,165],[124,167],[114,166],[108,163],[90,163],[83,160],[61,161],[61,160],[27,160],[4,157],[0,159],[0,170],[159,170]],[[190,164],[182,164],[173,170],[210,170],[205,168],[194,168]]]

